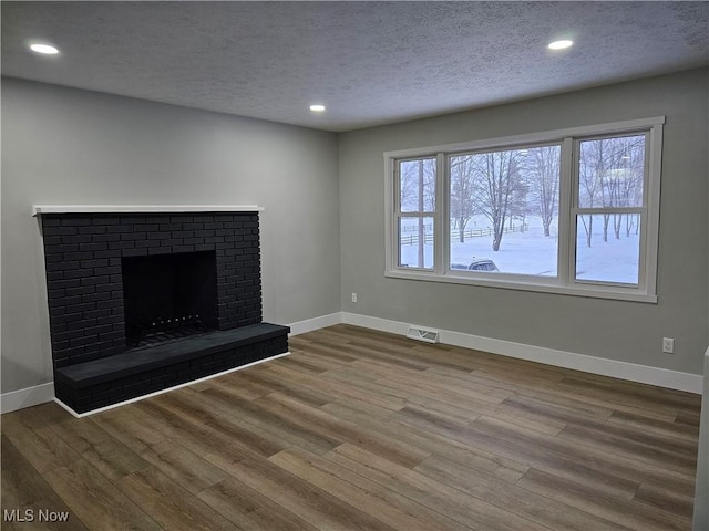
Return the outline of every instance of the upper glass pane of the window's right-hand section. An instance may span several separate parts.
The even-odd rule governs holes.
[[[641,207],[645,135],[580,142],[578,206]]]

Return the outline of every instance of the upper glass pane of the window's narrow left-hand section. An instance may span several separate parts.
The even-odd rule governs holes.
[[[435,158],[399,163],[399,205],[402,212],[435,211]]]

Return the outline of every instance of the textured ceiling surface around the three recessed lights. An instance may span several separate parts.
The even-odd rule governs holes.
[[[2,74],[348,131],[709,64],[703,2],[11,2]],[[568,37],[576,45],[549,52]],[[38,56],[30,40],[62,53]],[[316,115],[310,103],[328,111]]]

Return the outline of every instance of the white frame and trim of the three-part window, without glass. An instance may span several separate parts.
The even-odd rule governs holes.
[[[397,279],[449,282],[558,293],[566,295],[615,299],[636,302],[657,302],[657,252],[659,239],[660,174],[662,125],[665,116],[631,119],[608,124],[572,127],[534,134],[402,149],[384,153],[386,169],[386,270],[384,275]],[[646,171],[640,226],[638,284],[621,284],[589,280],[575,280],[576,271],[576,205],[578,178],[578,145],[580,140],[607,137],[614,134],[646,134]],[[448,158],[461,153],[485,149],[511,149],[544,144],[561,144],[558,254],[555,278],[511,273],[459,271],[450,269],[450,175]],[[398,236],[398,160],[436,157],[436,208],[434,219],[434,267],[431,270],[400,268]],[[588,214],[587,209],[584,210]],[[407,212],[408,214],[408,212]],[[603,214],[603,212],[602,212]]]

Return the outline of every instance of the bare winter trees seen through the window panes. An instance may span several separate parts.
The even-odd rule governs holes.
[[[536,216],[544,236],[552,235],[558,216],[561,145],[500,149],[454,155],[450,162],[450,216],[465,241],[465,227],[475,216],[484,216],[492,228],[492,249],[500,250],[505,227],[513,218]],[[645,136],[618,136],[579,143],[577,186],[579,208],[624,208],[643,205]],[[400,200],[402,212],[435,210],[435,158],[401,163]],[[594,217],[580,215],[579,227],[592,244]],[[604,212],[603,239],[613,229],[620,238],[638,231],[639,215]],[[420,231],[424,218],[419,217]],[[423,252],[421,250],[421,252]]]

